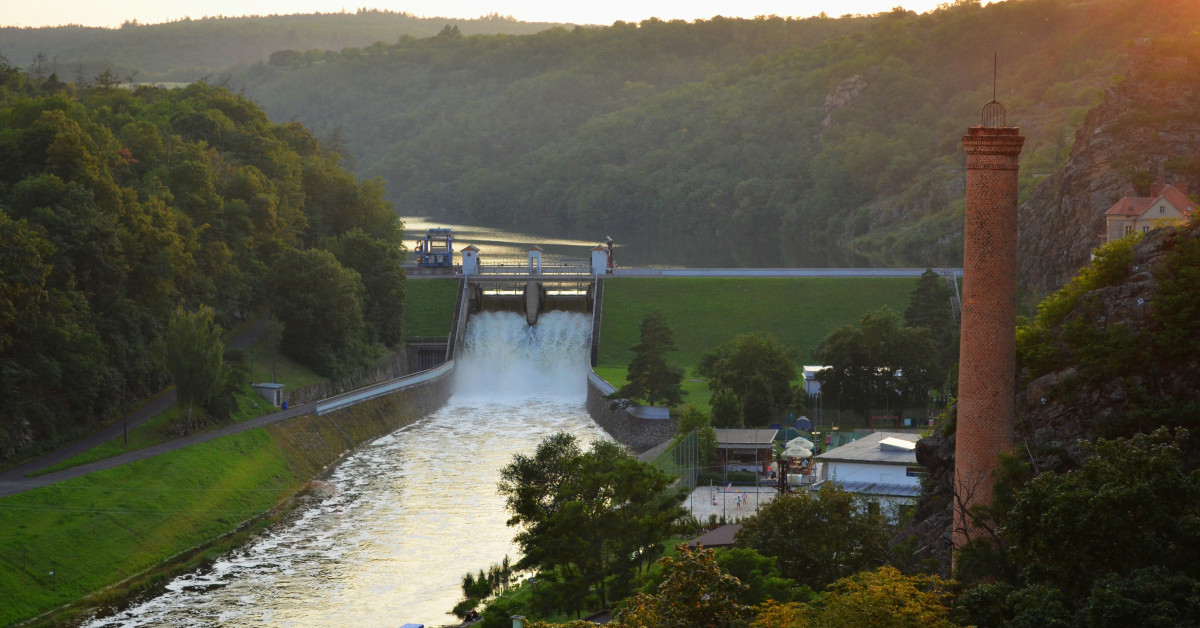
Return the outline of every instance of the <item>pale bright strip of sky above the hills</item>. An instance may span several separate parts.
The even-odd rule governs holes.
[[[944,0],[943,0],[944,1]],[[119,26],[137,19],[143,24],[169,22],[184,17],[246,16],[271,13],[353,12],[365,6],[389,11],[407,11],[426,17],[474,18],[488,13],[512,16],[527,22],[572,22],[576,24],[612,24],[618,19],[641,22],[662,19],[790,16],[808,17],[822,11],[830,17],[846,13],[878,13],[896,5],[930,11],[937,0],[606,0],[575,4],[563,0],[380,0],[350,4],[341,0],[2,0],[0,25],[46,26],[83,24]]]

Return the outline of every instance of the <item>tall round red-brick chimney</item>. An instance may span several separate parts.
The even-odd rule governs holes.
[[[984,107],[962,138],[967,154],[954,451],[954,546],[974,537],[966,510],[991,501],[997,455],[1013,449],[1016,385],[1016,171],[1025,138],[1004,108]]]

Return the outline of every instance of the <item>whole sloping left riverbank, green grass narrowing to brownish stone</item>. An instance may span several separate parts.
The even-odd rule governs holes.
[[[0,500],[0,626],[70,624],[94,600],[128,599],[236,546],[264,513],[359,443],[434,411],[449,389],[446,377]]]

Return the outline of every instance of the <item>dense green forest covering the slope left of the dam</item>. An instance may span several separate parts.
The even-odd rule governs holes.
[[[227,89],[0,66],[0,462],[160,390],[180,307],[230,328],[282,305],[284,351],[325,375],[396,345],[401,229],[377,183]]]

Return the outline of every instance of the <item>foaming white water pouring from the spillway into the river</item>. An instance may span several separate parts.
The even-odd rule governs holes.
[[[499,469],[558,431],[602,437],[584,409],[588,335],[576,313],[472,317],[444,408],[359,448],[294,521],[88,626],[455,623],[462,575],[516,558]]]

